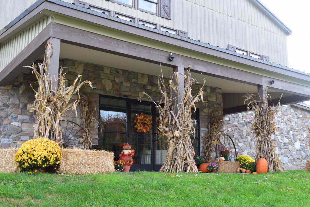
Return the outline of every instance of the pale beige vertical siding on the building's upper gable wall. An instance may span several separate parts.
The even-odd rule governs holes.
[[[23,0],[22,2],[31,4],[34,1]],[[271,62],[288,65],[286,33],[250,0],[171,0],[171,20],[107,0],[84,1],[187,31],[188,37],[194,40],[222,48],[232,44],[251,52],[267,55]],[[17,0],[11,0],[11,2],[17,2]],[[73,3],[74,0],[64,0],[64,2]],[[22,10],[20,9],[22,6],[18,6],[19,11]]]

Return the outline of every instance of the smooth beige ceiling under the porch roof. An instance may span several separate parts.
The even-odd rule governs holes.
[[[104,65],[155,76],[161,74],[160,65],[154,63],[139,61],[128,57],[100,52],[97,50],[79,47],[67,43],[60,44],[60,59],[78,60],[96,65]],[[162,65],[162,71],[164,77],[169,78],[172,75],[173,69],[171,67]],[[223,93],[257,92],[257,86],[254,85],[220,79],[208,75],[201,75],[198,73],[192,73],[192,76],[200,83],[202,83],[203,79],[206,78],[206,85],[215,88],[222,88]]]

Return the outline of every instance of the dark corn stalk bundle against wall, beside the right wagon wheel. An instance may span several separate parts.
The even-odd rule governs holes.
[[[213,111],[209,119],[209,132],[207,136],[203,137],[203,151],[205,153],[205,160],[213,160],[213,146],[217,144],[217,140],[221,135],[221,127],[223,125],[223,116],[215,115]]]

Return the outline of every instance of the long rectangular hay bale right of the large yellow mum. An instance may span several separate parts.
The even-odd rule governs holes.
[[[114,172],[113,152],[82,150],[79,148],[63,149],[58,173],[86,174]]]

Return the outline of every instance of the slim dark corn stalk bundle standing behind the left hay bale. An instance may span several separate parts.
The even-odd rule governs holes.
[[[95,124],[97,123],[95,117],[96,107],[91,106],[91,99],[84,98],[81,99],[80,105],[81,109],[81,117],[82,117],[82,146],[84,149],[92,149],[93,146],[93,129]]]

